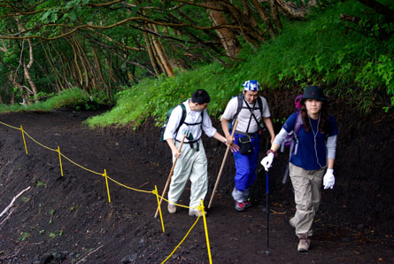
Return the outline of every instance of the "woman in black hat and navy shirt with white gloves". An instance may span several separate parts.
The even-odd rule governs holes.
[[[286,120],[261,164],[268,171],[283,140],[298,130],[293,136],[295,147],[290,153],[290,179],[297,204],[290,225],[299,238],[297,250],[307,252],[313,235],[313,217],[320,205],[321,183],[324,189],[334,187],[338,128],[336,120],[328,114],[328,103],[320,87],[306,87],[301,105],[300,113],[293,113]],[[301,123],[296,130],[296,124]]]

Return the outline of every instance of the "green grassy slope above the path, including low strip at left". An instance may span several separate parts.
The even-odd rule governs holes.
[[[339,20],[341,13],[370,17],[363,5],[352,0],[313,12],[307,21],[283,21],[282,34],[263,43],[257,52],[244,44],[240,60],[230,62],[231,68],[212,63],[179,72],[174,78],[145,79],[119,92],[111,111],[87,122],[90,127],[138,125],[153,116],[160,124],[168,109],[196,89],[209,92],[212,100],[208,111],[219,116],[228,99],[239,93],[241,84],[250,79],[258,80],[263,89],[303,89],[306,84],[318,84],[338,97],[352,97],[364,111],[373,104],[371,92],[386,95],[383,98],[386,102],[391,97],[394,105],[394,63],[390,58],[394,36],[382,48],[373,37],[345,30]],[[105,98],[97,93],[93,94],[93,101],[100,105]],[[89,107],[89,103],[88,93],[71,89],[28,107],[0,105],[0,113],[51,111],[66,105]]]

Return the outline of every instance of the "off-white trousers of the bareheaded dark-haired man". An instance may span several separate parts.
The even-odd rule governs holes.
[[[180,143],[175,143],[179,147]],[[208,190],[208,163],[205,149],[201,139],[199,140],[199,151],[191,149],[189,144],[183,144],[181,157],[174,167],[174,175],[171,177],[170,190],[168,190],[168,200],[176,203],[181,197],[186,183],[190,179],[190,207],[201,205],[200,199],[205,198]],[[173,162],[175,158],[173,156]]]

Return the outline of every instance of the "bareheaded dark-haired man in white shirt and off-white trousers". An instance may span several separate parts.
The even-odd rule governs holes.
[[[173,162],[178,159],[168,190],[170,203],[168,203],[167,209],[170,214],[176,212],[174,204],[181,197],[188,179],[191,182],[189,207],[200,206],[200,200],[205,198],[208,188],[208,174],[205,149],[201,140],[202,131],[204,130],[206,136],[228,144],[226,137],[221,136],[216,128],[212,127],[212,121],[206,113],[206,107],[210,101],[205,89],[197,89],[191,98],[182,103],[186,109],[186,118],[181,127],[178,128],[182,120],[182,105],[174,108],[166,125],[163,139],[166,140],[173,152]],[[178,148],[185,134],[187,136],[182,150],[179,151]],[[198,216],[199,214],[200,211],[197,209],[189,209],[189,215]]]

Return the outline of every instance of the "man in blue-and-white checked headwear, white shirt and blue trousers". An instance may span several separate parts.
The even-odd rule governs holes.
[[[237,211],[244,211],[251,206],[251,185],[256,179],[256,167],[259,162],[260,133],[266,125],[274,142],[274,126],[270,119],[267,100],[259,96],[259,82],[250,80],[243,83],[243,93],[232,98],[221,116],[221,128],[229,144],[233,141],[239,146],[239,151],[233,151],[236,161],[235,187],[232,195]],[[234,138],[228,125],[238,120]]]

